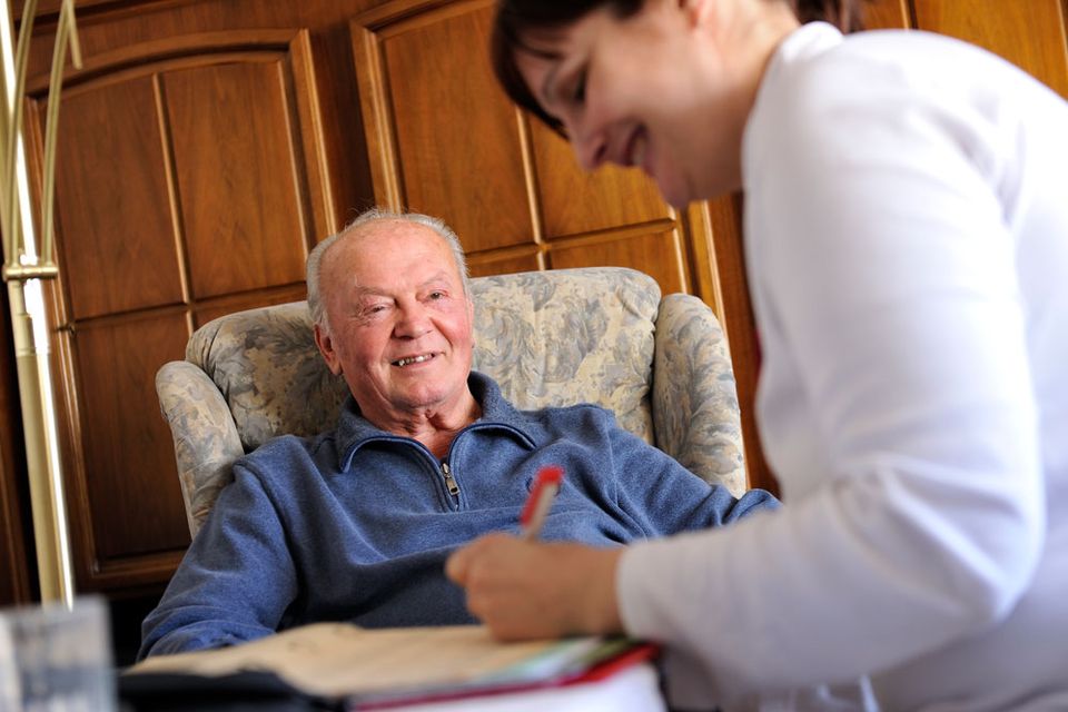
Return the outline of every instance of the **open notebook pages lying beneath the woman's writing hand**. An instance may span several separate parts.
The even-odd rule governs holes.
[[[151,657],[126,674],[269,672],[307,694],[370,709],[601,679],[655,652],[626,637],[502,643],[474,625],[315,623],[244,645]]]

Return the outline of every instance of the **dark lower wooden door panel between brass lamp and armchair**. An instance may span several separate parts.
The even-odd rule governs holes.
[[[81,423],[85,472],[66,473],[76,485],[68,508],[81,589],[189,543],[170,431],[146,417],[159,411],[159,365],[181,358],[187,337],[181,310],[101,319],[71,334],[79,399],[91,407]]]

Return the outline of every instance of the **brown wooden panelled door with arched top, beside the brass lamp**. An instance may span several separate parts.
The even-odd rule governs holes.
[[[81,591],[166,581],[189,543],[155,375],[209,318],[304,297],[336,227],[317,101],[296,29],[123,47],[65,87],[52,304]]]

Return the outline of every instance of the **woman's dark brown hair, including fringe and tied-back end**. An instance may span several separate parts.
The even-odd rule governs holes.
[[[785,0],[801,22],[823,20],[843,32],[862,29],[863,0]],[[563,135],[558,119],[542,109],[515,61],[516,51],[553,59],[554,53],[531,42],[532,37],[551,36],[594,10],[605,9],[617,19],[629,18],[642,9],[645,0],[498,0],[490,38],[493,71],[505,93],[521,108]]]

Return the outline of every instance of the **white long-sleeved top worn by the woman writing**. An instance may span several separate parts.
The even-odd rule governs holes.
[[[870,674],[887,710],[1068,709],[1068,105],[923,32],[778,49],[743,147],[785,507],[631,547],[681,706]]]

